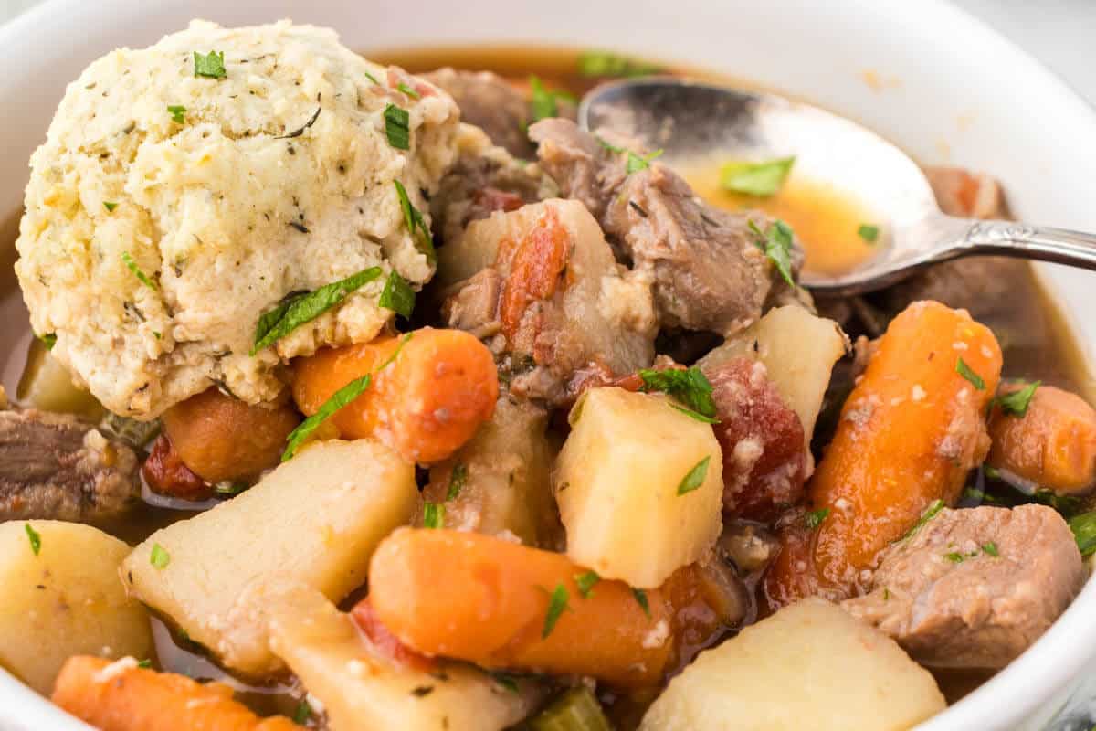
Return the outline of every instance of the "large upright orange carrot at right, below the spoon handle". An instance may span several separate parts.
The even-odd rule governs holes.
[[[921,301],[894,318],[808,486],[812,561],[778,561],[769,596],[800,596],[814,584],[802,571],[823,591],[850,591],[929,505],[954,504],[989,449],[983,414],[1000,378],[997,341],[966,310]]]

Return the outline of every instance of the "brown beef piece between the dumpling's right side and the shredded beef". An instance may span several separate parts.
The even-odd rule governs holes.
[[[556,184],[536,163],[523,163],[495,147],[482,130],[460,125],[456,163],[431,199],[434,232],[444,243],[460,238],[473,220],[495,210],[516,210],[556,194]]]

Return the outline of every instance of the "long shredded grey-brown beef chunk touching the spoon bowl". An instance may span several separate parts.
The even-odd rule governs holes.
[[[730,335],[761,317],[779,279],[750,230],[751,220],[770,224],[764,215],[710,206],[659,163],[629,174],[627,153],[567,119],[538,122],[529,136],[563,196],[585,204],[633,270],[651,273],[664,325]],[[797,248],[797,267],[801,259]]]

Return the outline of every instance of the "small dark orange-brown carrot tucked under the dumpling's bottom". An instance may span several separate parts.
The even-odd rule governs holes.
[[[172,447],[206,482],[246,480],[276,467],[286,436],[299,422],[289,403],[251,406],[216,388],[163,413]]]

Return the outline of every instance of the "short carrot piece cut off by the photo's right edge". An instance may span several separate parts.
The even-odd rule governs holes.
[[[1021,388],[1008,385],[1001,390],[1007,395]],[[1024,415],[997,406],[990,418],[990,438],[991,467],[1041,488],[1071,494],[1096,482],[1096,411],[1080,396],[1039,386]]]

